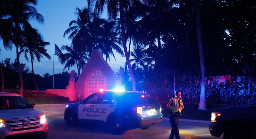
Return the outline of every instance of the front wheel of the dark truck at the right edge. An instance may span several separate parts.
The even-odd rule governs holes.
[[[228,126],[223,133],[223,139],[245,139],[249,137],[250,133],[244,126]]]

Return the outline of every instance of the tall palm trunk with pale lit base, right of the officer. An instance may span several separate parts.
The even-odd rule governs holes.
[[[197,42],[199,49],[200,67],[201,67],[201,93],[199,101],[199,110],[207,110],[205,105],[205,69],[204,69],[204,52],[202,44],[202,32],[201,32],[201,10],[200,0],[196,0],[196,27],[197,27]]]

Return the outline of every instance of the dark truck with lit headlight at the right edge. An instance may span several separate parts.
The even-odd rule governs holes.
[[[256,138],[256,99],[248,106],[232,106],[215,109],[209,123],[210,134],[224,139]]]

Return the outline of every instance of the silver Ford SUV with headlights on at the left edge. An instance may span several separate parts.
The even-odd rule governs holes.
[[[0,92],[0,139],[22,137],[42,138],[48,135],[43,112],[33,109],[16,93]]]

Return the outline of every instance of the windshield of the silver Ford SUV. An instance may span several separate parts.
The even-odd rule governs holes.
[[[32,108],[21,96],[0,96],[0,110]]]

